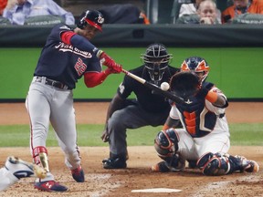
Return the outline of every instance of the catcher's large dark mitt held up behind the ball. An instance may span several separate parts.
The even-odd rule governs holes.
[[[193,72],[181,71],[174,74],[170,80],[171,91],[177,96],[188,99],[196,94],[200,88],[198,76]]]

